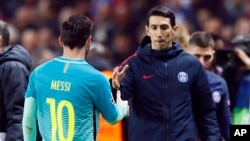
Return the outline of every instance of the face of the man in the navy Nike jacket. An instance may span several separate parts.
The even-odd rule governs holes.
[[[178,26],[172,28],[170,19],[162,16],[151,16],[149,25],[145,26],[146,34],[150,36],[152,49],[161,50],[172,45]]]

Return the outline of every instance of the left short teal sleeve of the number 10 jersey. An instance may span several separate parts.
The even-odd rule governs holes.
[[[25,92],[25,98],[27,97],[34,97],[36,98],[36,91],[35,91],[35,85],[34,85],[34,80],[35,80],[35,72],[32,72],[29,78],[29,83],[27,90]]]

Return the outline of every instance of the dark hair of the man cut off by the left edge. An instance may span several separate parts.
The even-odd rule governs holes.
[[[2,45],[8,46],[10,42],[10,32],[7,23],[1,20],[0,20],[0,35],[2,36],[3,39]]]

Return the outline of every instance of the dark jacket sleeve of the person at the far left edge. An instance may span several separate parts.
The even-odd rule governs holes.
[[[3,106],[6,112],[6,140],[23,140],[22,115],[29,71],[19,62],[7,62],[2,72]]]

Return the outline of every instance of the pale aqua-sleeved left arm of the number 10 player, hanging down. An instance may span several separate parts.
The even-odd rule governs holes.
[[[36,140],[36,110],[36,100],[33,97],[25,98],[22,121],[24,141]]]

